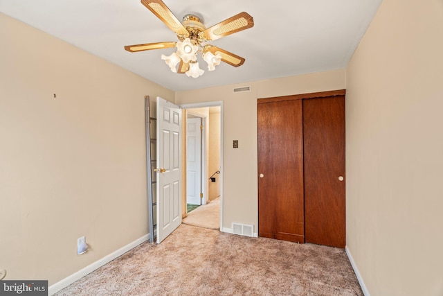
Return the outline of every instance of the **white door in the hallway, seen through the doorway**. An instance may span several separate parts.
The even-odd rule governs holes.
[[[186,123],[186,202],[201,204],[201,118],[188,118]]]

